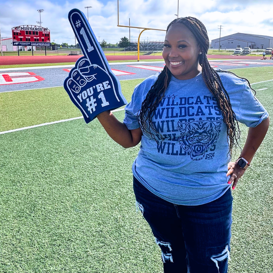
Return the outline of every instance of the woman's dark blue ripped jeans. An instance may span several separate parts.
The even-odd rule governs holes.
[[[136,207],[161,248],[164,273],[227,273],[232,195],[199,206],[176,205],[133,177]]]

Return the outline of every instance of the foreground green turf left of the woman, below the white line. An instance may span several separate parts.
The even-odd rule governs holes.
[[[136,214],[139,146],[124,149],[83,119],[0,138],[0,272],[162,272]]]

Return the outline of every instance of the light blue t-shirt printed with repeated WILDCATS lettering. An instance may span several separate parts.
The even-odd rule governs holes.
[[[135,87],[125,107],[129,130],[140,127],[138,111],[158,75]],[[247,81],[226,72],[219,75],[239,122],[255,127],[268,117]],[[202,75],[188,80],[172,76],[152,122],[159,132],[154,132],[156,140],[144,133],[133,163],[133,175],[147,189],[180,205],[205,204],[229,189],[227,127]]]

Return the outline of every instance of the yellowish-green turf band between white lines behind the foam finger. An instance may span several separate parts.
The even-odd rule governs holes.
[[[141,81],[120,82],[128,102]],[[82,115],[63,87],[0,93],[0,109],[0,132]]]

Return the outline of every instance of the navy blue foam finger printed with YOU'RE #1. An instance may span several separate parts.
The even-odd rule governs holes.
[[[64,89],[89,123],[101,112],[119,108],[127,101],[84,14],[75,8],[68,19],[84,57],[71,69]]]

